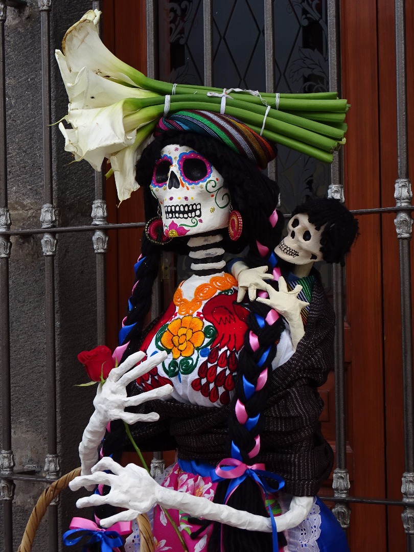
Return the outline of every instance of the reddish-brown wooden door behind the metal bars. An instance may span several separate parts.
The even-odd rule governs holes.
[[[414,73],[414,10],[407,6],[407,74]],[[145,2],[104,0],[104,41],[114,53],[146,70]],[[344,147],[344,187],[351,209],[394,206],[396,99],[394,2],[341,3],[342,97],[352,104]],[[408,79],[408,124],[413,81]],[[410,155],[412,157],[412,142]],[[140,192],[116,208],[108,183],[108,220],[143,220]],[[346,269],[346,381],[348,470],[351,495],[401,498],[404,472],[399,245],[394,215],[359,217],[360,237]],[[133,282],[139,230],[111,232],[107,254],[107,344],[114,348]],[[333,374],[322,390],[322,424],[335,440]],[[354,504],[348,532],[351,550],[402,552],[402,509]]]

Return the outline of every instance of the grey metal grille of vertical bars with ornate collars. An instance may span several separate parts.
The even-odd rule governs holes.
[[[134,224],[107,224],[106,205],[104,201],[103,172],[97,173],[94,182],[94,200],[92,204],[91,225],[63,225],[56,227],[56,208],[54,206],[54,174],[52,167],[52,97],[51,97],[51,68],[50,68],[50,10],[51,0],[39,0],[40,11],[40,35],[41,45],[41,91],[43,98],[43,205],[39,205],[41,227],[23,228],[10,230],[11,220],[8,209],[8,171],[7,171],[7,132],[6,132],[6,71],[5,71],[5,22],[7,5],[24,12],[27,9],[26,3],[20,0],[0,1],[0,362],[1,362],[1,383],[2,383],[2,450],[1,450],[1,498],[3,503],[3,543],[4,550],[10,552],[13,549],[13,499],[15,482],[18,485],[46,483],[55,480],[60,474],[60,459],[58,454],[57,424],[59,417],[56,408],[56,278],[55,261],[57,255],[57,237],[59,235],[92,233],[93,247],[96,259],[96,284],[95,298],[96,305],[96,337],[98,343],[105,342],[105,252],[107,251],[107,231],[113,229],[125,229],[128,227],[144,226],[144,222]],[[92,8],[100,9],[102,2],[92,2]],[[148,30],[148,75],[158,76],[158,2],[147,0],[147,30]],[[232,61],[233,71],[238,71],[240,83],[247,81],[248,73],[253,63],[254,52],[260,41],[264,44],[265,67],[264,78],[266,89],[273,91],[275,85],[280,82],[281,71],[279,68],[280,58],[275,56],[275,34],[274,34],[274,5],[272,0],[264,0],[263,12],[257,15],[256,8],[252,8],[253,2],[226,2],[226,9],[229,9],[229,22],[226,26],[219,26],[213,18],[212,0],[201,2],[187,2],[187,8],[192,7],[194,14],[203,19],[204,36],[203,49],[204,71],[194,61],[192,55],[192,66],[197,81],[204,81],[205,84],[213,84],[214,81],[214,59],[216,56],[224,55],[226,51],[229,58],[231,51],[226,43],[226,33],[230,22],[231,12],[236,9],[243,9],[246,17],[250,18],[254,33],[252,33],[252,44],[246,45],[249,51],[243,51],[245,65],[237,60]],[[296,13],[299,2],[289,3],[292,13]],[[295,6],[296,4],[296,6]],[[309,2],[309,5],[312,3]],[[325,6],[325,4],[323,4]],[[402,500],[391,501],[381,498],[351,497],[349,495],[349,477],[346,467],[346,433],[345,433],[345,397],[344,397],[344,338],[343,338],[343,273],[339,266],[333,267],[333,297],[337,317],[337,332],[335,342],[335,395],[336,395],[336,452],[337,468],[334,473],[333,491],[336,500],[334,508],[343,527],[349,524],[348,503],[366,502],[371,504],[405,506],[403,514],[404,527],[407,533],[407,551],[414,551],[414,432],[413,432],[413,374],[412,374],[412,327],[411,327],[411,273],[410,273],[410,238],[411,238],[411,184],[408,179],[407,161],[407,102],[406,102],[406,54],[405,54],[405,3],[403,0],[396,0],[396,60],[397,60],[397,123],[398,123],[398,179],[395,184],[396,205],[383,209],[365,209],[355,211],[359,215],[371,213],[385,213],[393,211],[396,214],[396,229],[400,245],[400,273],[401,273],[401,320],[402,320],[402,358],[404,371],[404,416],[405,416],[405,464],[406,472],[403,474]],[[33,6],[31,6],[33,7]],[[85,6],[87,9],[89,6]],[[55,8],[55,7],[54,7]],[[56,6],[56,9],[58,7]],[[341,82],[339,79],[339,14],[338,2],[327,0],[327,52],[329,63],[329,87],[332,90],[339,90]],[[76,20],[74,16],[72,20]],[[200,36],[199,30],[198,35]],[[24,36],[24,35],[23,35]],[[189,43],[192,40],[191,33],[188,35]],[[276,41],[278,36],[276,36]],[[214,46],[215,45],[215,46]],[[193,47],[193,46],[192,46]],[[327,52],[322,52],[323,55]],[[226,54],[226,55],[227,55]],[[276,62],[274,62],[276,60]],[[24,109],[24,106],[22,106]],[[274,174],[274,168],[270,172]],[[329,192],[332,197],[343,200],[342,164],[341,156],[336,156],[331,168]],[[64,219],[62,219],[64,220]],[[13,259],[11,250],[12,240],[18,238],[24,240],[29,237],[41,236],[41,247],[44,256],[43,278],[44,278],[44,323],[45,323],[45,382],[36,383],[36,392],[46,394],[47,408],[46,417],[47,431],[47,454],[43,473],[38,474],[33,470],[14,470],[14,454],[12,450],[12,372],[10,371],[10,320],[9,298],[9,260]],[[59,254],[63,254],[60,252]],[[24,295],[26,290],[20,290]],[[159,309],[159,301],[155,294],[153,312]],[[64,338],[64,337],[63,337]],[[14,364],[13,364],[14,365]],[[73,446],[73,443],[72,443]],[[326,497],[328,498],[328,497]],[[49,508],[49,550],[54,552],[59,549],[57,505]]]

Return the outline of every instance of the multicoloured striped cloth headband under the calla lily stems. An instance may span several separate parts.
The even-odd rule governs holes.
[[[160,136],[161,132],[169,130],[198,132],[211,136],[262,169],[266,168],[277,154],[275,146],[230,115],[209,111],[179,111],[174,115],[162,117],[155,128],[154,136]]]

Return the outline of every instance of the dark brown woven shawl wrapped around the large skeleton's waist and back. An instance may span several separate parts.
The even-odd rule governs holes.
[[[305,336],[271,376],[261,452],[256,459],[281,475],[285,491],[296,496],[315,495],[333,465],[332,449],[320,431],[323,402],[317,387],[333,369],[334,331],[333,309],[316,278]],[[216,465],[229,456],[226,421],[231,408],[232,404],[209,408],[175,400],[150,401],[140,411],[156,411],[160,420],[137,423],[132,434],[142,449],[166,450],[175,445],[183,460]]]

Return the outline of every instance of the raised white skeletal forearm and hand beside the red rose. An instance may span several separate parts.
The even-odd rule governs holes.
[[[113,420],[123,420],[128,424],[136,422],[156,422],[160,416],[156,412],[148,414],[133,414],[125,412],[127,406],[139,406],[143,402],[152,399],[161,399],[169,395],[173,388],[171,385],[147,391],[134,397],[126,396],[126,386],[146,374],[151,368],[160,364],[167,353],[157,353],[133,368],[137,362],[145,357],[145,353],[139,351],[131,354],[117,368],[113,368],[105,383],[98,384],[97,394],[93,400],[95,411],[83,432],[82,441],[79,444],[79,458],[81,458],[82,475],[91,473],[91,468],[98,460],[98,445],[105,434],[105,428]],[[91,489],[89,489],[91,490]]]

